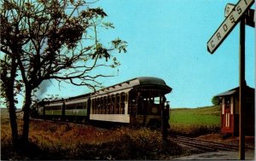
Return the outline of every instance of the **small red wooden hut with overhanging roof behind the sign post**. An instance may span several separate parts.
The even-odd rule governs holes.
[[[220,98],[221,132],[239,135],[239,87],[216,95]],[[254,135],[255,89],[247,86],[245,109],[245,135]]]

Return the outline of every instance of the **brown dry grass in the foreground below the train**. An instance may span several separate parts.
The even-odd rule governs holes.
[[[21,120],[18,121],[21,129]],[[20,131],[21,132],[21,131]],[[181,155],[173,141],[163,144],[159,130],[101,129],[90,125],[31,121],[30,145],[15,151],[8,118],[1,120],[1,159],[169,159]]]

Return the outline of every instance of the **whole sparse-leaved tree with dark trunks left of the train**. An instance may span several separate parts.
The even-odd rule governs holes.
[[[13,91],[25,94],[22,141],[26,143],[32,92],[42,81],[55,79],[95,89],[101,85],[97,78],[112,75],[93,71],[119,66],[113,52],[126,52],[127,43],[116,38],[104,46],[98,38],[99,27],[113,28],[113,24],[103,21],[107,16],[103,9],[89,8],[90,3],[84,1],[1,3],[2,88],[9,103],[10,122],[14,124],[13,137],[17,134]]]

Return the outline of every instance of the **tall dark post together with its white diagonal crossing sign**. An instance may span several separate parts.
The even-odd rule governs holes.
[[[253,5],[254,0],[240,0],[236,6],[232,9],[230,4],[225,9],[225,20],[218,27],[218,30],[213,34],[210,40],[207,42],[207,50],[213,54],[218,46],[224,41],[224,39],[230,34],[236,24],[240,21],[240,45],[239,45],[239,159],[245,159],[245,135],[244,135],[244,107],[245,107],[245,21],[249,22],[249,26],[252,26],[252,17],[248,15],[250,7]],[[230,9],[227,12],[227,9]],[[254,12],[254,10],[253,10]],[[254,26],[253,26],[254,27]]]

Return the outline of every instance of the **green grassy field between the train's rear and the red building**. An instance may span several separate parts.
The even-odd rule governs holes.
[[[220,109],[219,106],[172,109],[169,123],[172,133],[179,135],[215,133],[220,128]]]

